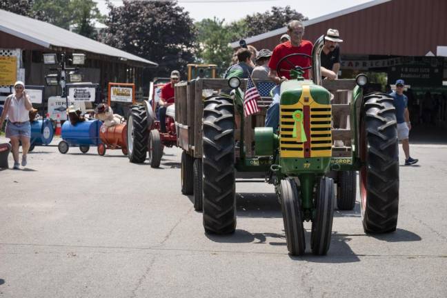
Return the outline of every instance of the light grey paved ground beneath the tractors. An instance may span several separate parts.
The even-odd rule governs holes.
[[[447,297],[447,146],[412,147],[395,233],[365,235],[357,203],[326,257],[288,256],[266,183],[238,183],[235,235],[210,237],[177,148],[160,169],[91,150],[0,171],[0,297]]]

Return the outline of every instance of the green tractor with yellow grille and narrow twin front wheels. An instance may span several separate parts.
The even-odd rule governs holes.
[[[235,232],[235,179],[261,175],[275,186],[289,254],[304,254],[304,221],[311,221],[311,250],[315,255],[325,255],[330,246],[335,208],[335,186],[329,176],[334,172],[355,173],[356,170],[360,172],[365,232],[396,229],[399,161],[393,99],[383,93],[364,97],[363,87],[368,83],[364,75],[357,76],[355,81],[321,81],[319,54],[323,45],[324,37],[320,37],[312,57],[308,56],[312,59],[313,81],[303,79],[303,69],[295,67],[291,70],[293,79],[281,84],[277,133],[272,128],[260,127],[264,126],[263,112],[237,123],[237,119],[244,119],[239,92],[231,97],[216,92],[224,88],[217,81],[199,80],[186,84],[190,88],[183,92],[184,99],[178,104],[184,110],[195,110],[195,116],[190,115],[190,120],[183,123],[179,119],[178,123],[184,129],[181,148],[189,160],[183,163],[182,159],[182,189],[185,183],[190,183],[194,199],[201,200],[195,202],[195,206],[203,208],[206,232]],[[287,59],[284,57],[278,64]],[[244,81],[228,80],[228,85],[235,90],[240,83]],[[331,89],[335,90],[351,83],[355,87],[350,103],[344,107],[332,105],[325,84],[332,84]],[[215,92],[202,101],[204,88],[214,88]],[[192,108],[186,106],[188,94],[196,95]],[[336,132],[332,128],[332,110],[349,113],[348,156],[334,156],[333,139],[346,135],[346,131]],[[254,129],[251,126],[255,126]],[[190,166],[195,163],[199,163],[201,169]]]

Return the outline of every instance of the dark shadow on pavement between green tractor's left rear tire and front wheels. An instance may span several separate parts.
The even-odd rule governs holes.
[[[238,217],[282,217],[281,205],[278,202],[275,192],[237,192],[236,206]]]

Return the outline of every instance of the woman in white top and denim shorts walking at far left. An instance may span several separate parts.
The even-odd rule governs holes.
[[[11,139],[14,169],[18,169],[20,142],[22,144],[22,166],[26,166],[26,156],[30,149],[31,124],[28,111],[32,109],[32,104],[22,81],[14,83],[14,91],[6,98],[5,108],[0,117],[0,127],[3,126],[3,121],[8,116],[6,137]]]

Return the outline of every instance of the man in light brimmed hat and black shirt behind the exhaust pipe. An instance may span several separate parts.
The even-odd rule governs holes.
[[[334,72],[337,78],[340,70],[340,48],[338,43],[343,42],[337,29],[328,29],[324,37],[324,47],[321,51],[321,66],[326,70]],[[329,79],[330,77],[328,77]],[[334,79],[335,79],[334,78]],[[330,78],[332,79],[332,78]]]

